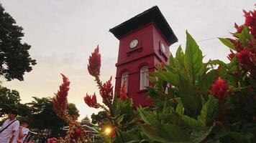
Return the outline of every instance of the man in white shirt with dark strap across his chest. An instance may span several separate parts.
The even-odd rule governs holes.
[[[0,130],[0,143],[9,143],[14,139],[14,132],[19,130],[19,121],[16,119],[18,112],[12,110],[8,114],[8,119],[2,124]]]

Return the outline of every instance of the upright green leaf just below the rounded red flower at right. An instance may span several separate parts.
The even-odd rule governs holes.
[[[218,100],[215,99],[213,96],[209,96],[209,99],[204,104],[203,108],[201,109],[201,113],[198,116],[198,121],[201,122],[204,126],[212,126],[214,122],[214,118],[218,112]]]

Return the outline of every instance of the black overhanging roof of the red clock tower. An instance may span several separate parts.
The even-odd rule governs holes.
[[[117,39],[120,39],[125,34],[128,34],[130,31],[139,28],[145,24],[150,22],[154,22],[157,28],[161,31],[165,39],[170,43],[173,44],[178,41],[177,37],[173,33],[173,30],[170,28],[170,25],[166,21],[165,17],[161,13],[160,9],[157,6],[153,6],[147,11],[138,14],[137,16],[132,17],[127,21],[124,21],[122,24],[115,26],[109,31],[116,36]]]

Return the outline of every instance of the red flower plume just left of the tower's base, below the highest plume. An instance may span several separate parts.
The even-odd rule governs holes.
[[[103,103],[106,104],[107,107],[111,106],[112,99],[113,99],[113,86],[111,84],[111,79],[110,77],[109,81],[104,83],[102,87],[100,87],[100,94],[103,100]]]

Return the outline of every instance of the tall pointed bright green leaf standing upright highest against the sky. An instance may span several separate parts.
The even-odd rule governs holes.
[[[187,42],[184,64],[188,71],[189,79],[194,84],[198,77],[204,72],[203,55],[199,46],[196,44],[196,41],[190,34],[188,34],[188,31],[186,31],[186,34]]]

